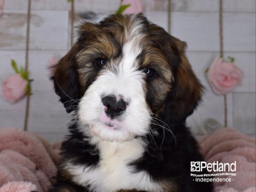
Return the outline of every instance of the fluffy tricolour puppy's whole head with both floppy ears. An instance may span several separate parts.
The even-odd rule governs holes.
[[[142,15],[111,15],[79,33],[52,80],[87,134],[122,142],[148,134],[156,115],[177,123],[192,113],[201,85],[184,42]]]

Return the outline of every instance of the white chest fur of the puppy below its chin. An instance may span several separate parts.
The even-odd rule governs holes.
[[[124,143],[100,141],[98,146],[100,161],[97,166],[67,164],[66,169],[73,175],[74,182],[89,187],[93,192],[116,192],[119,189],[163,191],[146,172],[136,172],[128,165],[142,157],[145,150],[142,140]]]

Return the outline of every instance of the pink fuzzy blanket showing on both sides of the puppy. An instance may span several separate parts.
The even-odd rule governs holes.
[[[218,129],[199,140],[207,162],[236,161],[233,182],[216,182],[216,192],[256,192],[256,140],[233,128]],[[54,183],[60,143],[14,128],[0,129],[0,192],[46,192]]]

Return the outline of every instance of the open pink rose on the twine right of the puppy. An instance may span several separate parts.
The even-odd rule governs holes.
[[[207,78],[214,93],[228,93],[241,82],[242,71],[235,64],[215,58],[207,73]]]

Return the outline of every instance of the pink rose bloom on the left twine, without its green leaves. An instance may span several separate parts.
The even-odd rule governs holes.
[[[19,73],[9,77],[3,81],[2,93],[3,98],[7,101],[14,103],[21,99],[26,94],[26,86],[28,81],[23,79]]]

